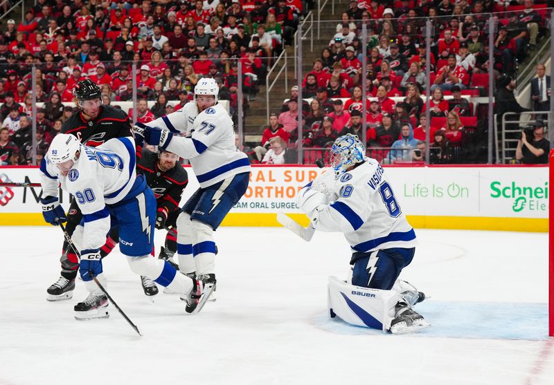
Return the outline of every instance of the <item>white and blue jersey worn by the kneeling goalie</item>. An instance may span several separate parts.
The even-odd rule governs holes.
[[[343,232],[352,252],[415,247],[415,232],[377,160],[367,158],[338,180],[329,170],[307,187],[328,197],[329,203],[317,206],[310,218],[316,229]]]

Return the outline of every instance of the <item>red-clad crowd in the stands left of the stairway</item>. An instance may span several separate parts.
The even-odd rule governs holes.
[[[137,120],[148,122],[179,110],[201,77],[213,77],[236,116],[239,62],[242,91],[255,94],[309,6],[310,0],[37,0],[0,35],[0,122],[7,129],[0,164],[32,163],[30,92],[44,102],[35,117],[42,158],[73,113],[62,103],[72,102],[73,87],[85,78],[101,86],[104,104],[118,106],[132,100],[135,77]],[[155,104],[149,109],[146,101]]]

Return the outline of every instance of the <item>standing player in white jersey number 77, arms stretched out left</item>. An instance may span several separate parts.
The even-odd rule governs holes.
[[[213,231],[247,191],[250,176],[250,162],[235,147],[233,121],[217,103],[218,93],[215,79],[200,79],[193,102],[148,126],[133,127],[137,146],[142,146],[144,140],[190,160],[200,188],[177,218],[179,270],[213,284]]]

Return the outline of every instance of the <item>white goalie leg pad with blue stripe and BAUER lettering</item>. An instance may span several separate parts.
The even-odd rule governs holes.
[[[402,297],[393,290],[361,288],[330,276],[328,306],[331,317],[356,326],[380,329],[386,332],[395,317],[395,305]]]

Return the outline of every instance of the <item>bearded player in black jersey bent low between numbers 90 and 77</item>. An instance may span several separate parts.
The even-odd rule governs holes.
[[[172,260],[177,252],[177,217],[181,213],[179,201],[188,183],[188,175],[179,165],[179,156],[162,150],[154,153],[137,147],[137,171],[142,172],[146,184],[154,191],[158,203],[156,228],[168,229],[165,247],[161,247],[159,258],[166,259],[179,270],[179,265]]]

